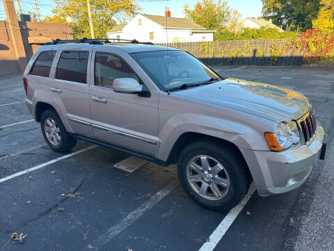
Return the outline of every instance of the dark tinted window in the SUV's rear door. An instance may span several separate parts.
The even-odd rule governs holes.
[[[56,70],[56,79],[87,83],[88,52],[62,52]]]

